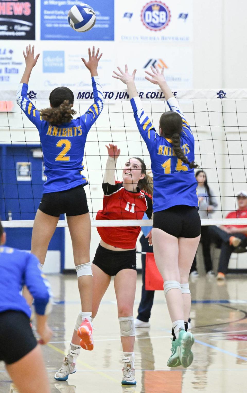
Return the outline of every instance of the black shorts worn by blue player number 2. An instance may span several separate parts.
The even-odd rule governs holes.
[[[88,202],[83,185],[65,191],[43,194],[38,207],[43,213],[53,217],[60,214],[79,216],[88,213]]]

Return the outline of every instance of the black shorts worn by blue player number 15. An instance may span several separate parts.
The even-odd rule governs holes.
[[[175,237],[192,239],[201,234],[201,219],[196,208],[177,205],[156,211],[153,228],[159,228]]]

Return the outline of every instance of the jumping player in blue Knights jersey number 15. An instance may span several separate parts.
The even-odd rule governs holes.
[[[176,98],[158,68],[151,67],[146,79],[161,88],[170,111],[161,115],[159,133],[148,118],[135,88],[134,77],[118,67],[115,78],[127,84],[135,121],[146,142],[154,175],[153,243],[157,268],[164,279],[166,303],[174,340],[170,367],[188,367],[193,360],[194,337],[188,333],[191,296],[188,285],[190,267],[200,240],[201,221],[198,214],[197,182],[194,176],[194,136]],[[185,324],[186,323],[186,324]]]

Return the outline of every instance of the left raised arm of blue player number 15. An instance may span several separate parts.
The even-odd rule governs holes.
[[[152,121],[148,118],[146,115],[145,111],[143,110],[143,106],[141,103],[141,99],[137,93],[136,87],[135,87],[135,72],[136,70],[133,71],[132,75],[128,73],[128,66],[125,65],[125,72],[121,70],[120,67],[117,67],[120,73],[115,73],[113,75],[113,78],[119,79],[123,83],[127,85],[128,88],[128,94],[130,97],[130,103],[132,105],[132,109],[134,112],[134,118],[136,125],[138,127],[138,130],[143,137],[144,141],[146,142],[147,148],[150,151],[153,145],[153,141],[155,140],[157,134],[155,131],[154,126],[152,125]]]

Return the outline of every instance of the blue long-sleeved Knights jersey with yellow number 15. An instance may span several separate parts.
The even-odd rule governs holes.
[[[154,212],[176,205],[198,207],[194,169],[177,158],[169,139],[157,134],[152,121],[143,110],[140,98],[134,97],[130,103],[138,130],[150,153],[154,176]],[[169,98],[167,103],[170,110],[179,113],[183,120],[181,149],[190,162],[194,161],[194,136],[190,126],[179,109],[176,98]]]

